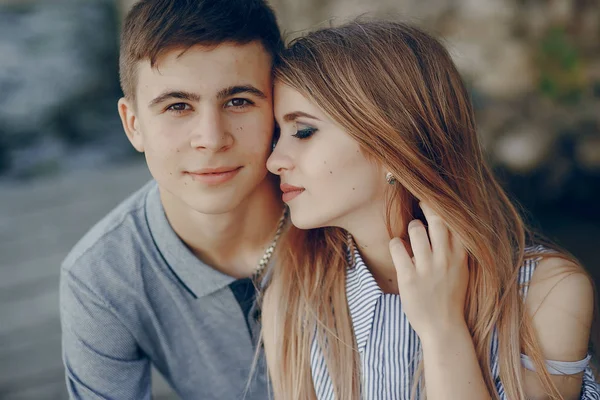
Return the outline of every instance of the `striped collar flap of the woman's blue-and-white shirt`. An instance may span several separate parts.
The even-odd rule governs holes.
[[[349,246],[346,296],[359,351],[364,351],[373,326],[375,306],[383,295],[356,246]]]

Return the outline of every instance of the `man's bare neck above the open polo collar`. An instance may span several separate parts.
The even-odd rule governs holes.
[[[243,203],[223,214],[203,214],[161,198],[173,230],[204,263],[235,278],[251,276],[273,241],[283,204],[266,178]]]

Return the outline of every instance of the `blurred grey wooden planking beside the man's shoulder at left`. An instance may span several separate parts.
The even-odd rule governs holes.
[[[81,236],[150,179],[143,162],[0,184],[0,399],[67,398],[60,263]],[[153,371],[153,393],[172,400]]]

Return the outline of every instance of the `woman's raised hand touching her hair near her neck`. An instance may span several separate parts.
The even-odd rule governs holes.
[[[399,238],[390,241],[398,288],[411,326],[422,342],[455,329],[465,329],[465,297],[469,281],[467,252],[458,237],[429,206],[420,204],[427,219],[408,224],[411,259]]]

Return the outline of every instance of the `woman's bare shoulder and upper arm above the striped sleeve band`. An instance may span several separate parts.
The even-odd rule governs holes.
[[[581,360],[588,351],[594,314],[593,282],[581,265],[560,253],[538,253],[525,308],[542,352],[551,360]]]

